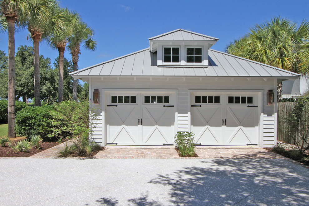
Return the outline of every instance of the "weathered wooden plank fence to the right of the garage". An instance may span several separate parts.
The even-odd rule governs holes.
[[[303,104],[303,109],[301,111],[295,110],[295,105],[295,102],[278,103],[277,140],[306,147],[309,144],[309,102]],[[296,123],[296,125],[294,125],[295,121],[290,123],[286,123],[285,121],[290,112],[293,112],[293,115],[297,118],[298,123]],[[290,127],[290,125],[287,124],[294,125],[294,129],[292,131],[288,131],[288,127]]]

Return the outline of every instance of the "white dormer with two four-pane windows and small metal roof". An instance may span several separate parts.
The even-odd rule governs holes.
[[[161,67],[208,67],[208,49],[219,39],[177,29],[149,39]]]

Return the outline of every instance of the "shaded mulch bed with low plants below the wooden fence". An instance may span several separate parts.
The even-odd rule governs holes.
[[[288,150],[282,147],[273,147],[273,148],[264,148],[264,149],[280,154],[289,159],[293,159],[297,162],[309,165],[309,154],[307,151],[305,153],[300,153],[299,150]]]

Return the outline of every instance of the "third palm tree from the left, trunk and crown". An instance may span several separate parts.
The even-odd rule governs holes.
[[[58,30],[53,30],[48,41],[52,48],[57,49],[59,52],[59,80],[58,80],[58,102],[63,101],[63,58],[64,52],[66,51],[67,38],[73,33],[73,28],[77,22],[80,20],[80,16],[76,12],[71,12],[67,8],[58,8],[57,16],[63,19],[62,32]]]

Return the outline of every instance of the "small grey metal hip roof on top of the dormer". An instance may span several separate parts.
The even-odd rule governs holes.
[[[160,34],[149,40],[170,40],[170,41],[218,41],[218,38],[206,36],[195,32],[190,32],[184,29],[176,29],[171,32]]]

